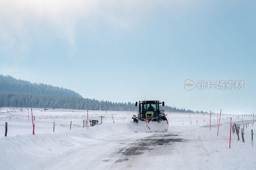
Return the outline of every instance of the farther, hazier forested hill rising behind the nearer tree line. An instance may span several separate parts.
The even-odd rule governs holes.
[[[18,93],[31,93],[39,95],[52,95],[58,97],[76,97],[82,98],[82,96],[72,90],[66,88],[60,88],[52,85],[46,85],[43,83],[30,83],[29,81],[17,80],[12,76],[0,75],[0,92],[18,92]]]

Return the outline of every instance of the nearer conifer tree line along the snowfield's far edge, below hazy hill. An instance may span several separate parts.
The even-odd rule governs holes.
[[[67,108],[85,110],[117,110],[117,111],[137,111],[135,103],[95,100],[88,98],[60,97],[50,95],[39,95],[19,92],[0,92],[0,107],[37,107],[37,108]],[[192,110],[165,106],[166,112],[189,112]]]

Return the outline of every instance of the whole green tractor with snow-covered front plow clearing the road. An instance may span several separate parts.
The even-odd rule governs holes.
[[[138,102],[135,103],[135,106],[137,105]],[[169,123],[164,110],[160,111],[159,105],[164,106],[164,101],[139,101],[139,114],[138,117],[133,115],[133,121],[143,126],[146,132],[167,132]]]

